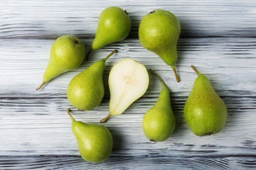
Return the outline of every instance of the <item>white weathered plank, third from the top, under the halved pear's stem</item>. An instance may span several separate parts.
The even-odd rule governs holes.
[[[228,106],[225,128],[217,135],[196,137],[183,118],[184,97],[173,98],[176,130],[165,142],[149,142],[142,131],[144,113],[156,96],[139,99],[122,115],[105,125],[114,137],[114,155],[143,155],[147,152],[177,157],[255,156],[255,98],[223,98]],[[77,120],[99,123],[108,114],[108,100],[93,111],[73,111]],[[71,132],[67,98],[1,98],[0,155],[79,155]]]

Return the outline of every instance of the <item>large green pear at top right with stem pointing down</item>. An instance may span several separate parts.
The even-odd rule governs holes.
[[[159,55],[174,70],[176,81],[177,42],[181,34],[181,25],[176,16],[161,9],[146,14],[139,24],[139,40],[146,50]]]

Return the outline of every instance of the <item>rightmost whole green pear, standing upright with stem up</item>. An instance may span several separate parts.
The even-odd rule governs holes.
[[[198,78],[184,106],[186,123],[197,136],[216,134],[223,130],[228,115],[227,107],[215,93],[208,78],[193,65],[191,67]]]

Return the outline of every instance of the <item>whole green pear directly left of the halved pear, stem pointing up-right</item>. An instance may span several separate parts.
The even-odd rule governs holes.
[[[114,50],[105,59],[99,60],[75,76],[68,84],[68,101],[80,110],[90,111],[97,107],[105,94],[102,74],[106,60],[117,52]]]

